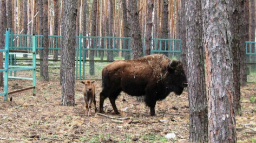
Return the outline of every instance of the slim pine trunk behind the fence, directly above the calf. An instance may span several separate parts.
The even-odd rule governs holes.
[[[97,0],[93,1],[93,8],[91,11],[91,37],[95,37],[96,36],[96,23],[97,23]],[[90,48],[94,48],[94,44],[93,44],[94,39],[91,38],[91,47]],[[90,62],[89,62],[89,66],[90,66],[90,75],[94,75],[94,51],[91,50],[90,51],[90,56],[89,56]]]

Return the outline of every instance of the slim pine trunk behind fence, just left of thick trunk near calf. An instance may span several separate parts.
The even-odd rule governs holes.
[[[58,35],[58,0],[54,0],[54,35]],[[54,47],[56,47],[56,41],[58,40],[58,38],[56,38],[56,40],[54,40]],[[58,50],[55,49],[54,50],[54,60],[57,61],[58,60]]]

